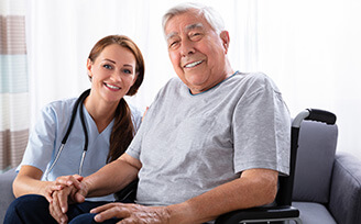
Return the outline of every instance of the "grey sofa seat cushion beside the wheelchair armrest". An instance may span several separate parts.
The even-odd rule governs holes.
[[[337,224],[325,205],[314,202],[292,202],[299,210],[303,224]]]

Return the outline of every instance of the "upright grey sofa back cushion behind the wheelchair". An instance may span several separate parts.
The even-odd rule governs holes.
[[[294,201],[328,203],[337,136],[337,125],[311,121],[302,123]]]

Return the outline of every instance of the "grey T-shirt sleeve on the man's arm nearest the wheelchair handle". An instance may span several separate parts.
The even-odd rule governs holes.
[[[291,117],[266,76],[255,76],[233,114],[234,171],[265,168],[288,173]]]

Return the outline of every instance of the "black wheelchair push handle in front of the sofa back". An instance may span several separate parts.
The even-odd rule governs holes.
[[[292,122],[293,127],[299,127],[303,120],[317,121],[326,124],[335,124],[336,115],[331,112],[319,109],[306,109],[297,114]]]

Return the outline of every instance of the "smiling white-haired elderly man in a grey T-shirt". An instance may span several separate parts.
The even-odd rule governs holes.
[[[136,204],[108,203],[70,223],[205,223],[274,201],[291,135],[280,91],[263,74],[231,68],[229,34],[212,9],[175,7],[163,26],[178,78],[158,92],[125,154],[83,180],[59,181],[50,205],[56,221],[68,221],[68,200],[117,192],[136,177]]]

